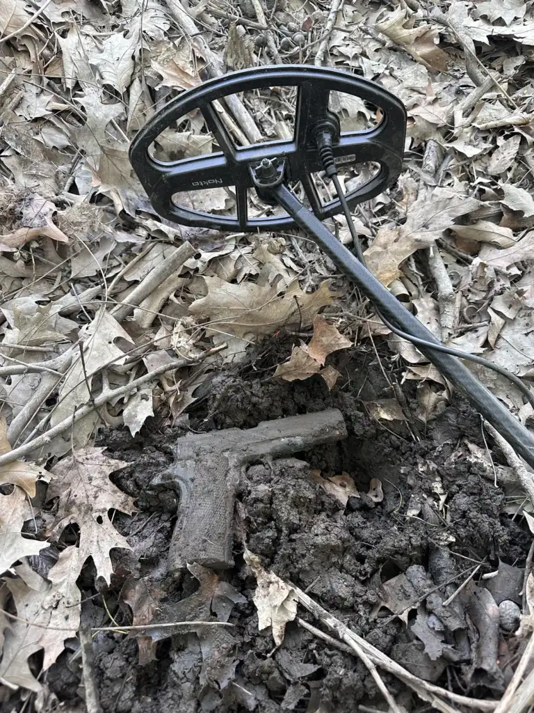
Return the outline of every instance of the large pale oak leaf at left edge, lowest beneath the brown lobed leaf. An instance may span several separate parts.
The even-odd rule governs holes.
[[[28,657],[44,650],[43,670],[47,670],[63,652],[63,642],[76,635],[80,626],[79,550],[66,548],[48,572],[48,580],[34,572],[27,563],[15,568],[17,579],[6,580],[13,595],[18,620],[6,631],[4,655],[0,662],[0,682],[10,687],[41,689],[28,666]],[[30,622],[29,625],[26,622]]]

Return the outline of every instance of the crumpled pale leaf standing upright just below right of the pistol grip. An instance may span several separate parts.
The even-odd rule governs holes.
[[[281,646],[286,624],[297,615],[298,597],[275,573],[264,570],[258,555],[245,548],[244,560],[256,575],[256,592],[252,599],[258,611],[258,630],[272,627],[276,646]]]

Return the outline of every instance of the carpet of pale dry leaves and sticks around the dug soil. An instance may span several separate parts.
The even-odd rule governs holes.
[[[201,398],[195,390],[221,369],[240,369],[248,350],[281,333],[293,335],[293,344],[278,354],[271,375],[289,384],[312,384],[319,375],[334,392],[346,388],[339,384],[350,350],[374,354],[375,341],[386,337],[404,359],[402,381],[414,385],[415,398],[408,409],[395,390],[394,398],[367,399],[367,414],[384,429],[407,424],[415,433],[453,397],[422,354],[379,327],[369,305],[298,233],[226,236],[159,220],[127,160],[137,130],[208,76],[279,58],[316,60],[389,88],[407,105],[407,158],[398,187],[355,215],[367,263],[446,343],[530,379],[533,46],[534,11],[515,1],[330,8],[260,0],[224,9],[191,4],[185,11],[158,0],[1,3],[0,602],[7,613],[0,622],[0,679],[6,689],[42,694],[33,654],[42,652],[41,668],[48,670],[75,636],[78,577],[89,560],[95,578],[109,584],[117,571],[110,550],[130,557],[122,601],[138,625],[158,610],[157,597],[152,601],[143,589],[140,565],[132,565],[122,525],[115,528],[115,518],[135,518],[137,506],[110,480],[127,463],[94,445],[103,429],[125,426],[138,436],[147,426],[179,424]],[[222,103],[217,111],[239,140],[280,138],[289,135],[291,112],[288,96],[276,98],[269,104],[261,94],[244,97],[244,125]],[[370,120],[363,103],[337,101],[347,128]],[[155,152],[176,159],[210,153],[213,145],[196,113],[160,136]],[[361,176],[343,178],[350,188]],[[319,190],[328,198],[325,177]],[[189,200],[218,212],[235,205],[235,196],[221,189]],[[255,199],[249,208],[266,210]],[[333,227],[350,245],[342,218]],[[158,281],[162,260],[184,242],[194,257],[178,260]],[[219,351],[212,353],[214,347]],[[471,368],[528,422],[531,409],[514,386]],[[73,425],[80,409],[86,413]],[[507,466],[493,467],[504,473]],[[339,481],[350,476],[313,477],[345,505],[347,486],[357,496],[353,481]],[[379,503],[382,486],[375,481],[368,497]],[[431,503],[414,501],[411,511],[428,517]],[[261,625],[274,622],[281,645],[296,600],[255,557],[249,558]],[[201,583],[199,605],[227,584],[214,585],[201,570],[192,575]],[[417,573],[410,575],[412,589],[424,590]],[[275,586],[289,599],[277,595],[273,609],[261,588]],[[229,590],[221,597],[240,603]],[[412,625],[434,663],[450,644],[436,633],[436,606],[419,604]],[[211,620],[209,607],[203,615]],[[148,663],[155,648],[144,640]],[[204,682],[213,682],[207,641]],[[436,668],[412,643],[402,655],[433,677]],[[230,655],[225,665],[224,687],[235,674]],[[258,691],[250,697],[260,704]]]

